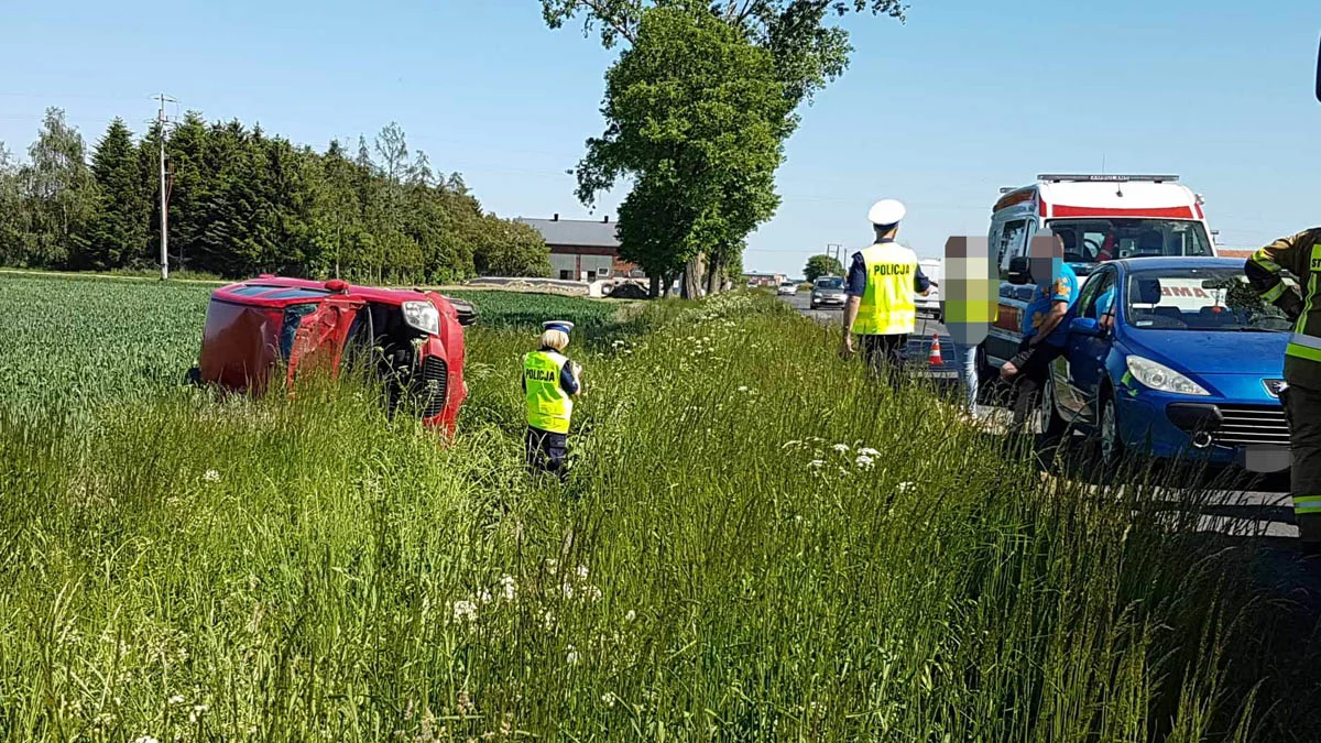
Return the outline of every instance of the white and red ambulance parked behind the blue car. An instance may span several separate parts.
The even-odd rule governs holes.
[[[1034,237],[1058,235],[1082,283],[1104,260],[1215,255],[1202,204],[1178,176],[1161,175],[1046,173],[1032,185],[1000,189],[987,235],[1000,270],[1000,312],[978,353],[982,378],[995,378],[1022,340],[1021,317],[1036,287],[1008,276],[1011,268],[1024,270]]]

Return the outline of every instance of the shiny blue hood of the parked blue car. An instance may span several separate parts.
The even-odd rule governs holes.
[[[1129,350],[1190,374],[1281,377],[1288,333],[1133,331]]]

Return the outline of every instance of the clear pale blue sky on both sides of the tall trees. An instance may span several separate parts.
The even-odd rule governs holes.
[[[852,65],[802,111],[749,270],[797,274],[827,243],[867,243],[882,197],[939,255],[950,234],[984,234],[999,186],[1102,164],[1180,173],[1225,245],[1321,223],[1314,0],[913,0],[906,24],[847,26]],[[0,141],[25,155],[52,104],[89,143],[115,115],[141,131],[164,90],[317,148],[399,122],[487,209],[588,217],[564,171],[601,131],[613,58],[548,30],[536,0],[12,4]]]

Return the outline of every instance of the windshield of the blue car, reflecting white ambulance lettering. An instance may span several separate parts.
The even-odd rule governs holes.
[[[1243,271],[1235,268],[1133,271],[1124,297],[1128,324],[1140,329],[1287,332],[1292,328],[1284,312],[1262,301]]]

